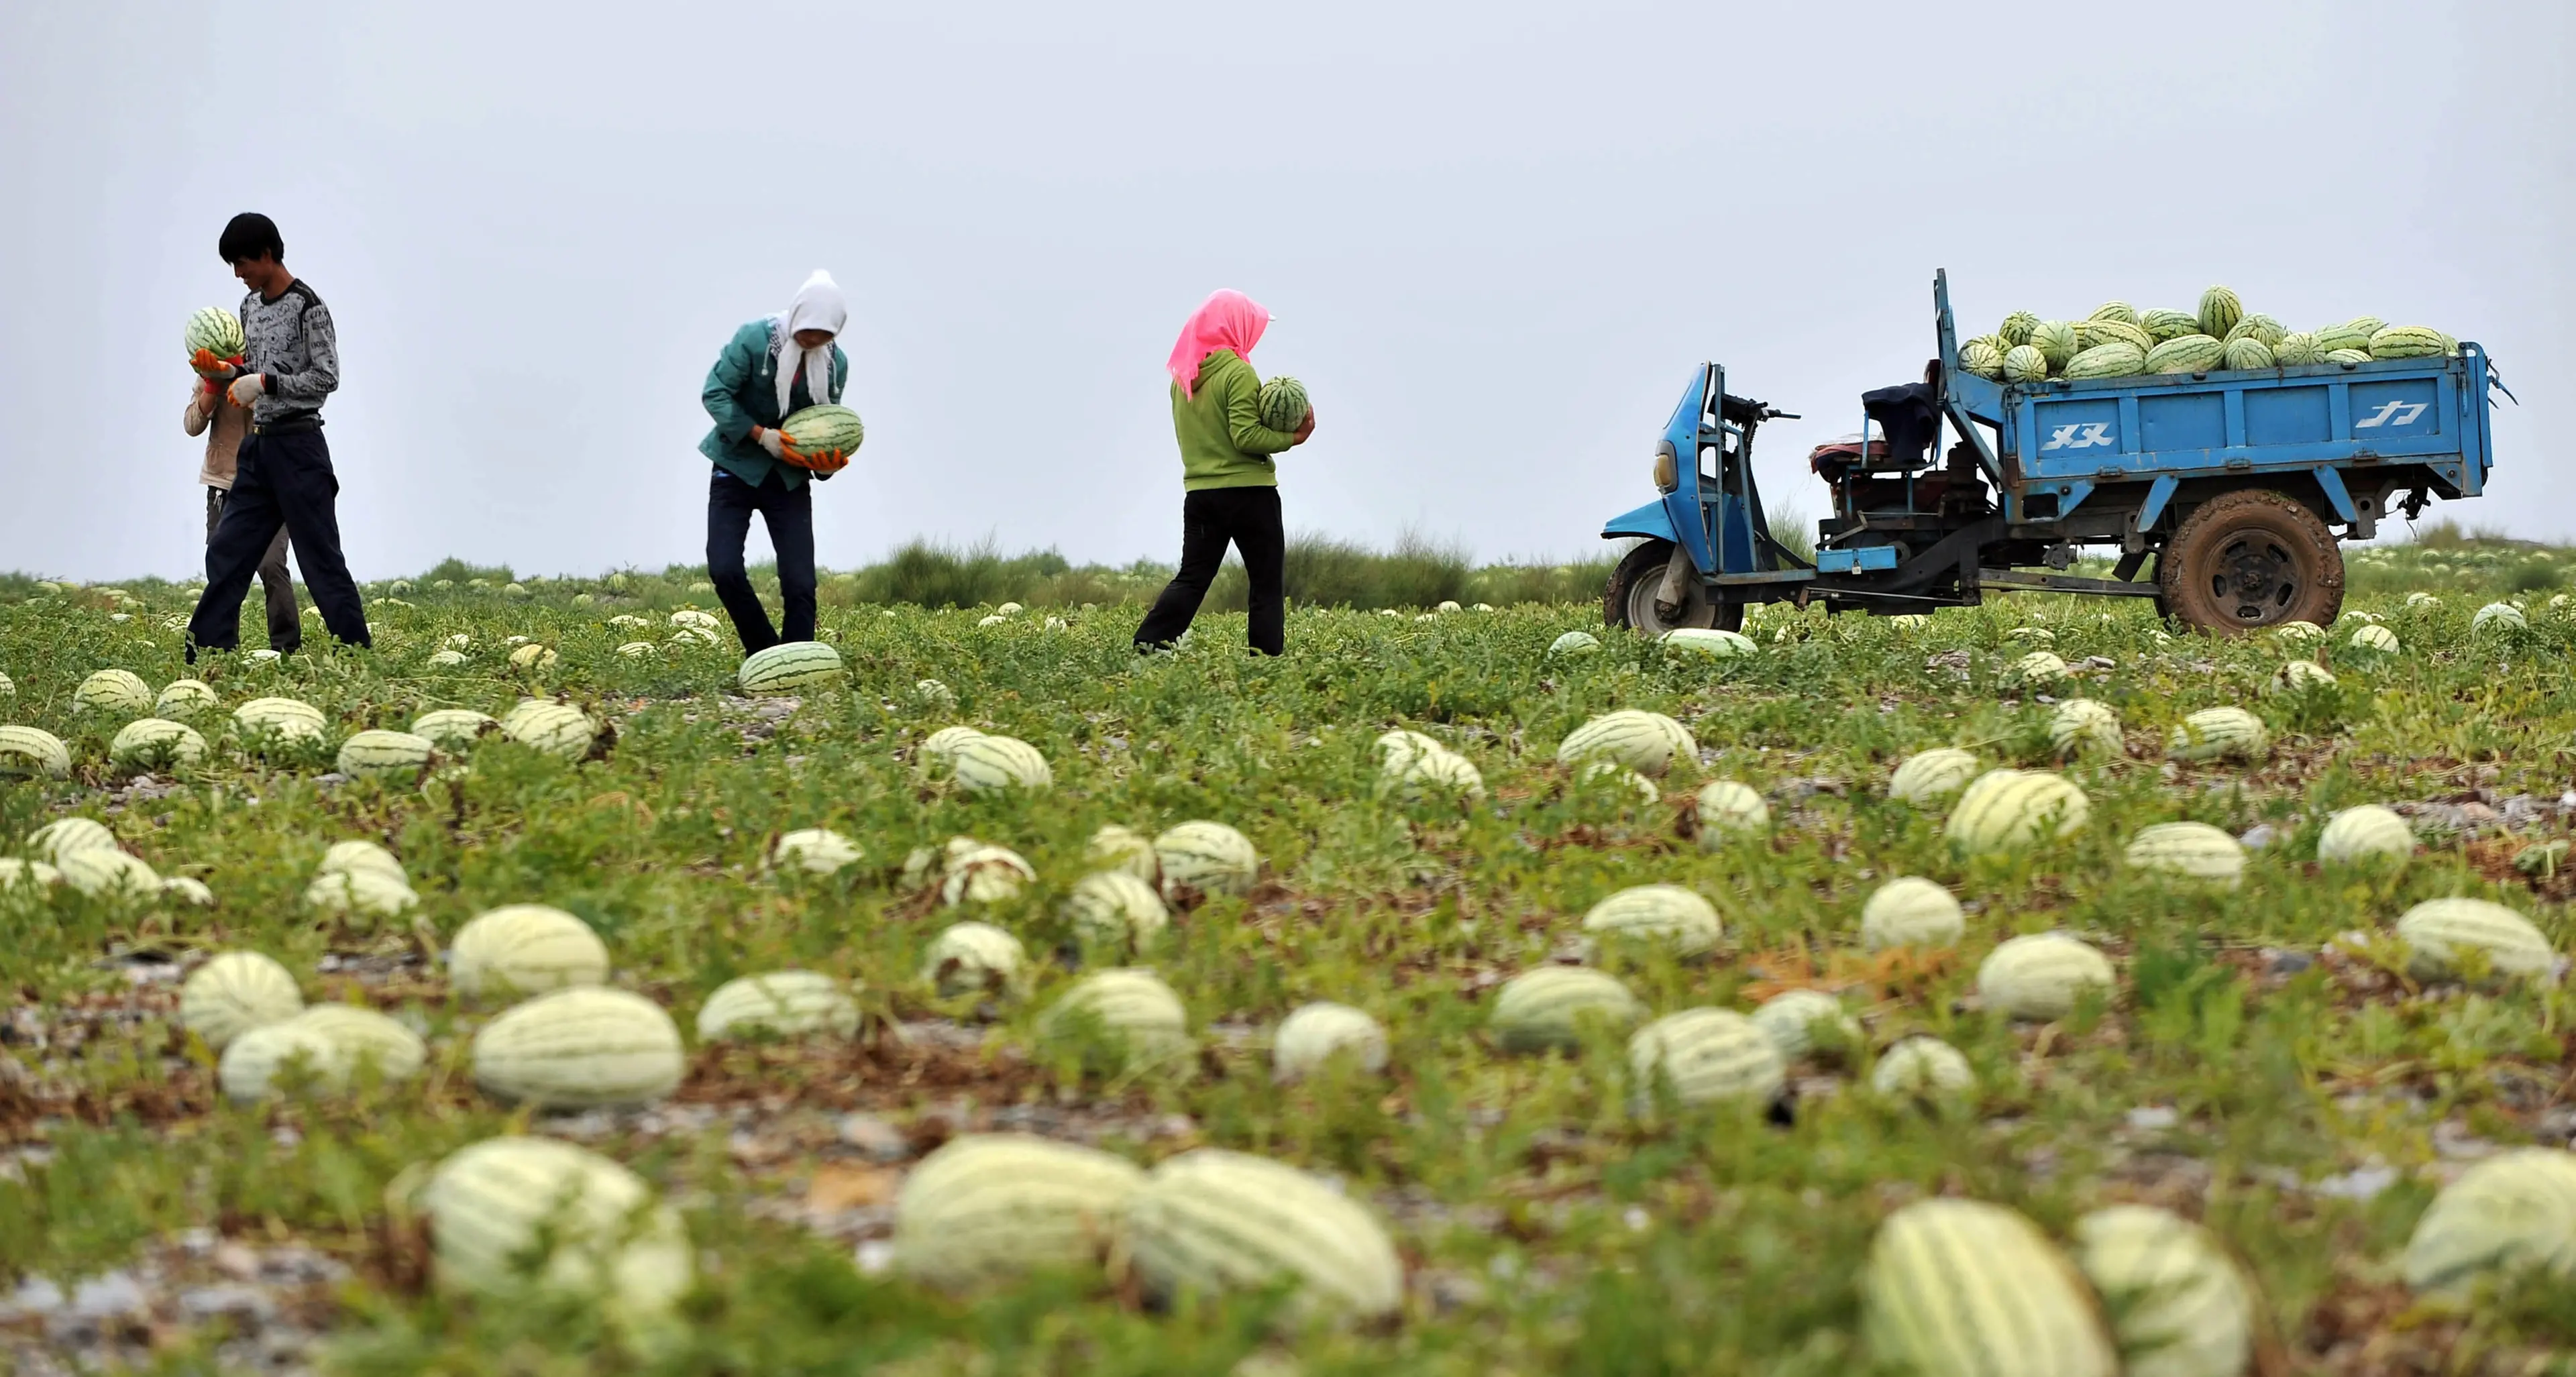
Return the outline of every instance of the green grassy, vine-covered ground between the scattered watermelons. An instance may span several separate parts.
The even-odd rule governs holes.
[[[59,734],[77,767],[67,782],[0,782],[0,855],[44,821],[95,816],[162,875],[206,880],[216,906],[70,891],[0,901],[0,986],[15,991],[0,1022],[0,1356],[26,1372],[70,1359],[644,1367],[580,1305],[430,1295],[417,1238],[386,1225],[384,1187],[402,1169],[533,1130],[631,1163],[683,1207],[703,1284],[685,1349],[659,1356],[670,1372],[1182,1374],[1247,1359],[1270,1364],[1247,1372],[1870,1372],[1860,1259],[1875,1223],[1924,1194],[2004,1202],[2050,1230],[2115,1199],[2200,1217],[2257,1277],[2280,1372],[2545,1372],[2550,1354],[2576,1351],[2563,1289],[2439,1305],[2406,1295],[2393,1264],[2450,1174],[2496,1145],[2576,1132],[2576,1006],[2550,986],[2419,986],[2385,932],[2414,901],[2473,893],[2568,942],[2568,875],[2514,865],[2568,829],[2576,618],[2548,602],[2568,566],[2563,551],[2494,543],[2362,556],[2352,605],[2403,643],[2370,661],[2344,643],[2349,625],[2308,649],[2164,643],[2143,607],[2066,600],[1911,628],[1770,610],[1749,628],[1759,654],[1723,664],[1623,636],[1548,659],[1558,633],[1597,631],[1597,605],[1515,597],[1484,597],[1494,613],[1298,610],[1278,661],[1239,651],[1239,615],[1211,615],[1180,654],[1139,661],[1126,646],[1139,610],[1123,600],[1151,595],[1149,571],[1139,587],[1056,597],[1064,625],[1046,610],[979,625],[989,607],[876,607],[896,574],[873,592],[860,574],[827,582],[824,638],[848,659],[848,690],[793,703],[737,698],[729,649],[613,654],[667,641],[672,607],[714,605],[685,569],[523,595],[500,587],[507,571],[474,587],[487,574],[448,569],[435,574],[446,589],[430,577],[371,589],[374,654],[201,669],[224,708],[304,698],[335,736],[438,705],[500,713],[523,692],[569,695],[616,726],[603,759],[487,739],[461,770],[402,788],[340,780],[327,754],[237,757],[211,723],[216,759],[201,772],[111,770],[118,723],[75,713],[72,690],[103,667],[155,687],[180,677],[167,618],[185,613],[185,589],[5,579],[0,672],[15,695],[0,721]],[[994,587],[969,592],[989,602]],[[2527,631],[2470,631],[2481,602],[2517,589]],[[1427,592],[1471,600],[1476,584],[1406,597]],[[2409,605],[2409,592],[2439,602]],[[2076,839],[1963,862],[1937,811],[1891,803],[1883,785],[1901,757],[1945,744],[2045,764],[2048,703],[2004,677],[2027,649],[2014,628],[2053,633],[2081,674],[2053,692],[2117,708],[2128,754],[2071,767],[2092,798]],[[453,636],[466,664],[430,667]],[[556,664],[513,672],[513,636],[551,646]],[[2264,695],[2287,656],[2324,659],[2339,685]],[[920,679],[945,682],[956,708],[925,703]],[[2269,759],[2164,762],[2174,721],[2218,703],[2269,718]],[[1698,736],[1698,759],[1662,780],[1656,803],[1553,762],[1569,728],[1623,705]],[[1054,793],[920,782],[914,744],[956,721],[1043,749]],[[1466,808],[1383,795],[1370,739],[1391,726],[1453,744],[1492,795]],[[1770,798],[1767,834],[1692,839],[1690,795],[1721,777]],[[2409,811],[2421,855],[2401,870],[2321,870],[2326,813],[2367,800]],[[984,916],[1054,952],[1066,939],[1056,903],[1092,829],[1182,818],[1229,821],[1265,860],[1249,896],[1198,903],[1144,957],[1203,1037],[1195,1078],[1087,1081],[1036,1048],[1036,1012],[1074,978],[1061,960],[1025,1001],[976,1009],[922,988],[922,947],[961,914],[902,878],[914,847],[971,834],[1020,849],[1038,885]],[[2244,888],[2120,865],[2130,834],[2172,818],[2267,842]],[[868,857],[835,878],[770,873],[768,842],[799,826],[835,826]],[[322,849],[345,836],[402,857],[417,921],[301,909]],[[1965,898],[1965,945],[1862,957],[1860,903],[1891,875]],[[1484,1035],[1499,981],[1579,955],[1584,909],[1654,880],[1705,893],[1726,919],[1710,960],[1595,952],[1656,1012],[1821,986],[1868,1027],[1865,1045],[1793,1071],[1785,1114],[1641,1122],[1615,1037],[1512,1058]],[[453,999],[435,963],[443,934],[513,901],[580,914],[613,950],[616,981],[683,1027],[721,981],[801,965],[860,981],[876,1032],[698,1048],[680,1094],[654,1109],[513,1112],[466,1073],[489,1009]],[[2117,996],[2056,1024],[1986,1012],[1978,960],[2040,929],[2112,952]],[[224,1104],[173,1012],[178,975],[229,947],[276,955],[309,999],[417,1019],[430,1071],[337,1099]],[[1391,1073],[1273,1084],[1267,1030],[1309,999],[1383,1019]],[[1968,1099],[1927,1109],[1868,1091],[1875,1050],[1911,1032],[1965,1050]],[[1275,1297],[1162,1310],[1097,1271],[969,1297],[884,1274],[902,1174],[943,1138],[992,1127],[1144,1163],[1229,1145],[1332,1174],[1394,1233],[1404,1315],[1278,1344]]]

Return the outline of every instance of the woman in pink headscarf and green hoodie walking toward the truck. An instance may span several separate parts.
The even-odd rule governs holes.
[[[1262,425],[1262,378],[1252,345],[1270,329],[1270,311],[1218,288],[1180,327],[1172,358],[1172,435],[1180,440],[1180,574],[1164,584],[1136,628],[1136,651],[1159,651],[1190,631],[1231,543],[1252,582],[1252,649],[1288,649],[1285,564],[1275,456],[1314,435],[1314,409],[1291,430]]]

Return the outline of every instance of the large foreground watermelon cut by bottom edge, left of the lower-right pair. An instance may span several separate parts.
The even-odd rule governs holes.
[[[1922,1377],[2112,1377],[2120,1359],[2066,1253],[2022,1215],[1917,1199],[1888,1215],[1860,1277],[1862,1336]]]

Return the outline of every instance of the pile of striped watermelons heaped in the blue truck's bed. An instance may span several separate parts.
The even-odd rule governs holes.
[[[1958,342],[1958,365],[1978,378],[2038,384],[2048,378],[2130,378],[2254,368],[2349,365],[2383,358],[2458,355],[2460,340],[2421,324],[2354,317],[2316,329],[2246,311],[2223,286],[2182,309],[2138,309],[2105,301],[2084,319],[2040,319],[2012,311],[1991,335]]]

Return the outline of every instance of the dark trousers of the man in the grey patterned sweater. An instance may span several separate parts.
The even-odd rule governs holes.
[[[304,589],[322,610],[322,625],[350,646],[374,646],[358,582],[340,556],[340,476],[330,468],[330,443],[319,430],[252,432],[232,471],[224,517],[206,541],[206,595],[188,618],[188,664],[196,651],[232,651],[242,643],[242,595],[283,528],[304,566]]]

